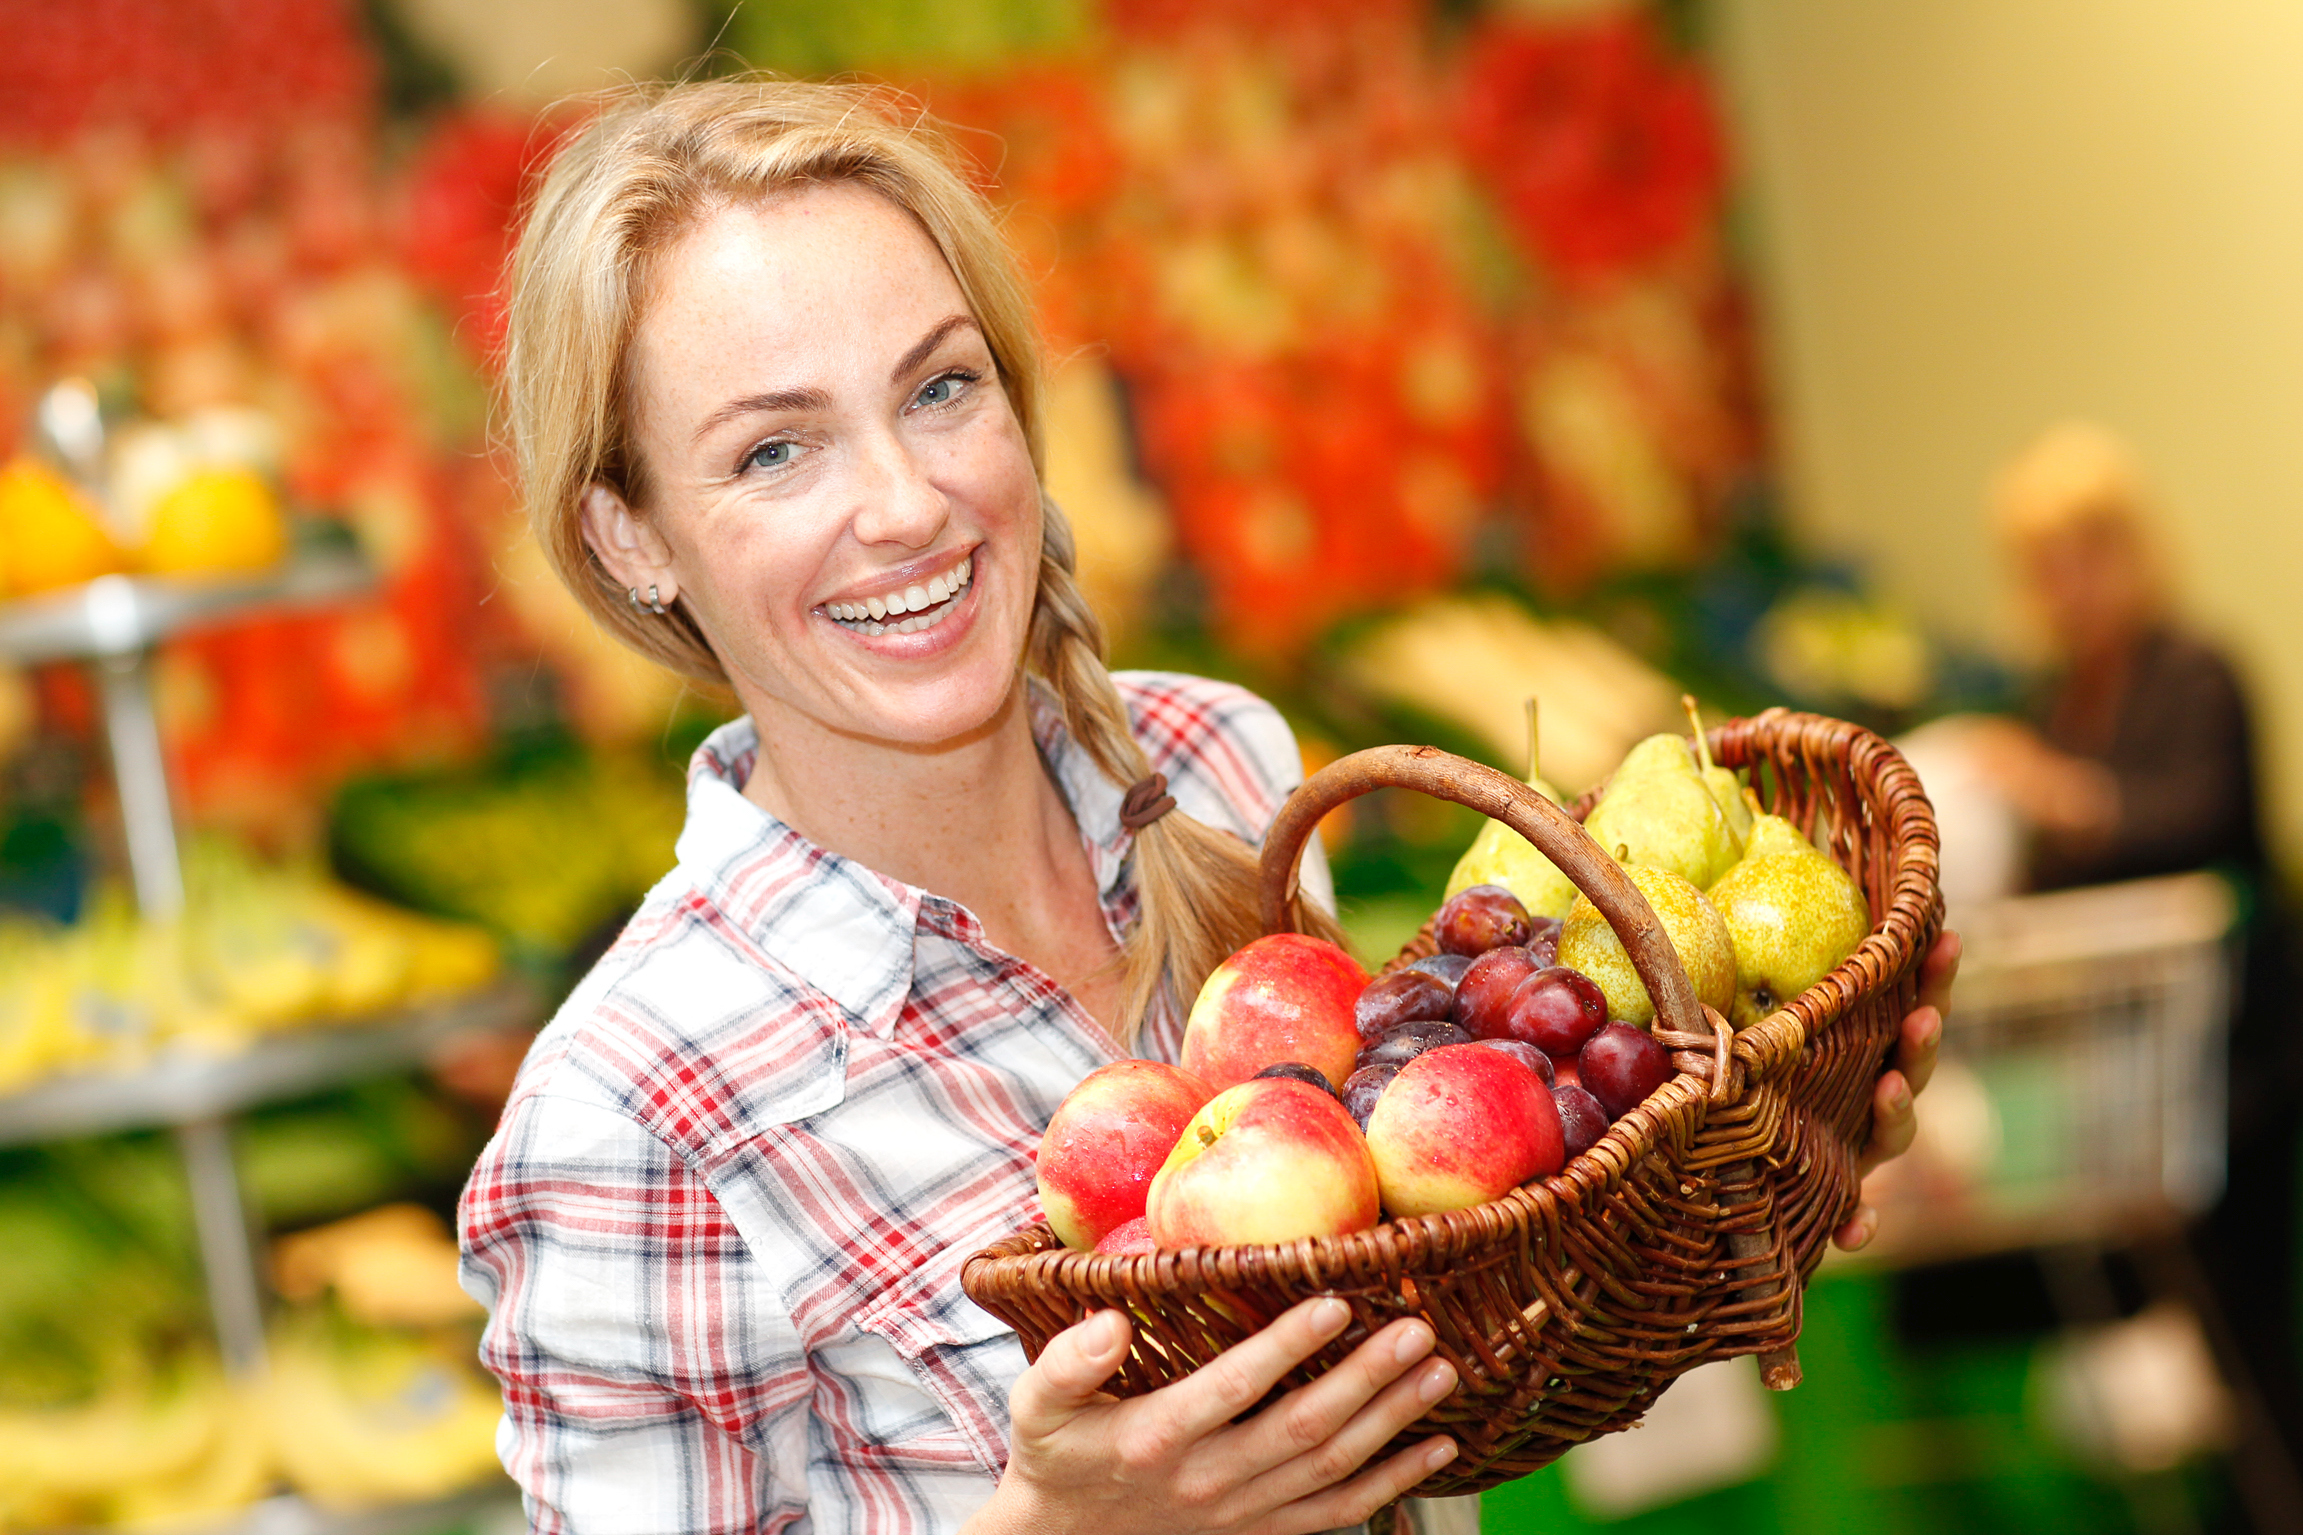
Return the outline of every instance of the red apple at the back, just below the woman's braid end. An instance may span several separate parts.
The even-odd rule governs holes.
[[[1218,1093],[1267,1066],[1301,1061],[1329,1082],[1359,1056],[1359,994],[1368,971],[1322,939],[1276,932],[1209,973],[1184,1024],[1184,1070]]]

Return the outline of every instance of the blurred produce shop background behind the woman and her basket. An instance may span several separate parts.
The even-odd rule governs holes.
[[[2268,0],[0,0],[0,1530],[518,1528],[447,1217],[730,700],[527,541],[497,274],[580,92],[746,67],[1006,212],[1117,663],[1918,764],[1969,962],[1806,1385],[1488,1530],[2303,1530]],[[1363,955],[1474,828],[1331,817]]]

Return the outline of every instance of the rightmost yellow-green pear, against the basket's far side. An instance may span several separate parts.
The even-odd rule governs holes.
[[[1750,849],[1711,886],[1711,904],[1734,941],[1736,1029],[1822,980],[1870,932],[1856,881],[1780,815],[1753,822]]]

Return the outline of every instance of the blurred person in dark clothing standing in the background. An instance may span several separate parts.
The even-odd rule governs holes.
[[[2259,1418],[2278,1427],[2296,1466],[2303,1031],[2245,688],[2211,642],[2174,619],[2151,497],[2116,435],[2089,423],[2047,430],[2001,472],[1992,511],[2054,647],[2029,718],[1976,734],[1983,773],[2031,828],[2029,886],[2213,868],[2239,891],[2227,1183],[2192,1247],[2225,1353],[2236,1351],[2252,1376]]]

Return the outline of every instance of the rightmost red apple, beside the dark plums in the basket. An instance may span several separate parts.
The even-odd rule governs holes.
[[[1485,1204],[1566,1162],[1543,1077],[1485,1045],[1442,1045],[1403,1066],[1368,1114],[1368,1153],[1393,1215]]]

